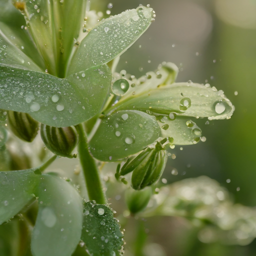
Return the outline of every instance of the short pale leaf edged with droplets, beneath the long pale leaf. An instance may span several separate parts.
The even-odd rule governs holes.
[[[161,127],[160,137],[169,138],[171,144],[189,145],[200,140],[201,129],[186,117],[177,116],[174,120],[170,120],[162,116],[157,122]]]

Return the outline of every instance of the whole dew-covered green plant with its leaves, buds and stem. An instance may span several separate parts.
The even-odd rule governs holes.
[[[176,83],[173,63],[138,79],[115,72],[119,55],[154,21],[150,6],[99,16],[86,0],[0,2],[0,224],[15,234],[5,237],[2,255],[29,255],[29,248],[33,256],[122,254],[123,232],[107,204],[98,162],[117,162],[115,177],[125,184],[132,172],[137,191],[126,200],[136,214],[150,199],[147,186],[162,174],[167,147],[200,140],[190,118],[233,113],[222,90]],[[39,127],[54,154],[47,160],[42,143],[33,141]],[[33,141],[37,152],[26,153],[29,146],[19,139]],[[61,179],[43,172],[59,156],[76,157],[75,147],[85,184],[72,174]],[[185,203],[180,212],[195,214]]]

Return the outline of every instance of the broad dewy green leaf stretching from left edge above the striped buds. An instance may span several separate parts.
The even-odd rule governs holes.
[[[0,108],[29,113],[50,126],[70,126],[97,114],[111,81],[107,65],[60,79],[0,66]]]

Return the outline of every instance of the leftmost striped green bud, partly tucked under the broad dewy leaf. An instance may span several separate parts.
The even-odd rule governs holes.
[[[8,111],[8,127],[14,135],[27,142],[32,142],[35,138],[39,122],[33,119],[28,113]]]

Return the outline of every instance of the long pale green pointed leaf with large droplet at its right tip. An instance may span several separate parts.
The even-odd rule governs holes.
[[[230,118],[234,106],[222,90],[208,84],[179,82],[151,89],[127,98],[115,105],[115,109],[137,109],[159,114],[175,112],[183,116]]]

